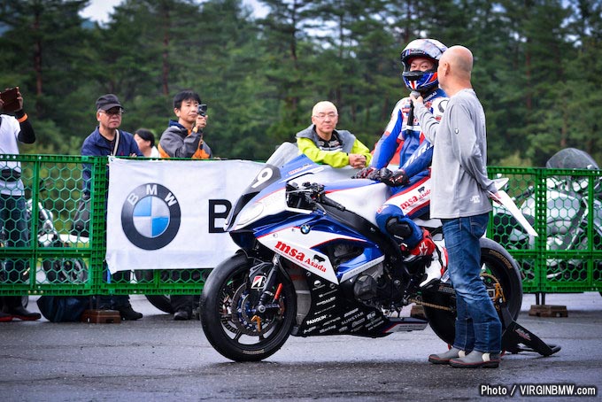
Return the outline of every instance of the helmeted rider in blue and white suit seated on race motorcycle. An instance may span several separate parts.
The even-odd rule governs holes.
[[[424,104],[440,120],[447,98],[438,88],[436,69],[447,47],[435,39],[416,39],[401,52],[405,87],[418,91]],[[387,166],[399,149],[399,169],[391,172]],[[428,230],[421,229],[412,218],[428,214],[430,205],[430,163],[432,145],[421,132],[420,123],[413,118],[410,97],[397,102],[381,139],[376,143],[371,166],[355,177],[384,182],[391,187],[392,196],[376,212],[376,222],[384,233],[400,244],[405,262],[410,264],[422,256],[433,256],[440,264],[431,263],[426,269],[426,286],[441,278],[444,252],[436,252]]]

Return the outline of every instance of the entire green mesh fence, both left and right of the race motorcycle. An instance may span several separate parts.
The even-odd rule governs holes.
[[[20,164],[23,190],[0,186],[0,295],[167,295],[203,289],[206,268],[131,267],[109,277],[104,265],[106,158],[0,155],[0,165],[5,162]],[[87,228],[75,219],[84,198],[84,164],[92,174]],[[519,263],[524,291],[602,290],[602,172],[489,170],[491,177],[509,179],[506,191],[540,234],[527,235],[503,208],[496,206],[491,213],[488,236]]]

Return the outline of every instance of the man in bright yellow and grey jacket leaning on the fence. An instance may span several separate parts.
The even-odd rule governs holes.
[[[299,131],[297,147],[314,162],[333,167],[351,166],[360,169],[368,166],[372,155],[364,145],[347,130],[336,130],[338,112],[328,101],[313,106],[312,125]]]

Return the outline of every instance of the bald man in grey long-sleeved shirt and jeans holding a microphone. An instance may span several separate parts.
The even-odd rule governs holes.
[[[431,218],[443,221],[448,269],[456,290],[456,337],[451,350],[428,361],[452,367],[499,366],[502,325],[481,274],[481,246],[497,189],[487,177],[485,113],[470,77],[473,55],[452,46],[439,61],[439,85],[450,97],[440,121],[413,97],[414,113],[433,143]]]

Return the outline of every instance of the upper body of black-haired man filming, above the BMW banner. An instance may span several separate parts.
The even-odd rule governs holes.
[[[209,145],[203,140],[207,125],[207,105],[201,104],[196,92],[184,90],[174,97],[174,113],[178,120],[169,120],[161,135],[158,151],[161,158],[212,158]]]

